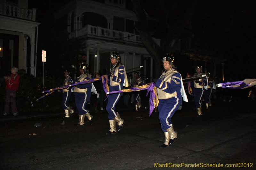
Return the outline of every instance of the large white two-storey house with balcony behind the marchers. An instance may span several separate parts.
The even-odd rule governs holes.
[[[125,0],[74,0],[56,11],[54,17],[66,26],[70,38],[84,39],[84,58],[91,71],[109,70],[109,57],[117,51],[126,70],[143,65],[144,72],[150,70],[152,81],[153,59],[133,29],[135,13],[125,5]],[[155,41],[160,44],[160,39]]]

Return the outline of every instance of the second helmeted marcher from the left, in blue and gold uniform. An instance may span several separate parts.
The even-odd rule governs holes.
[[[88,72],[89,66],[87,63],[82,63],[80,69],[83,69],[84,73],[82,73],[74,83],[91,79],[91,75]],[[89,122],[92,125],[93,117],[89,114],[89,110],[86,109],[86,104],[91,99],[92,84],[87,83],[76,85],[73,91],[75,94],[76,108],[79,114],[79,123],[77,125],[84,125],[85,116],[89,119]]]

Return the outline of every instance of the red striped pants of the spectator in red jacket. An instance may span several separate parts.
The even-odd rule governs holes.
[[[4,113],[9,113],[10,103],[12,107],[12,113],[17,113],[16,107],[16,91],[17,90],[6,90],[6,99],[5,99],[5,106],[4,106]]]

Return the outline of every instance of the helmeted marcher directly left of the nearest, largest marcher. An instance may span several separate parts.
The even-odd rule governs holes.
[[[124,87],[128,87],[128,79],[124,65],[121,63],[121,58],[118,53],[111,55],[110,59],[116,59],[116,63],[113,64],[111,69],[111,76],[109,78],[109,91],[122,90]],[[123,87],[124,86],[124,87]],[[108,104],[106,110],[108,112],[108,119],[110,124],[110,130],[106,133],[114,134],[117,131],[120,131],[124,126],[124,120],[120,118],[118,112],[116,112],[116,103],[121,97],[121,93],[113,93],[108,95]],[[116,123],[118,129],[116,130]]]

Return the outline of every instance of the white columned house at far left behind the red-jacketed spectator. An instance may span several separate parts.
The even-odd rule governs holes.
[[[28,0],[0,0],[0,70],[16,66],[35,75],[39,25]]]

